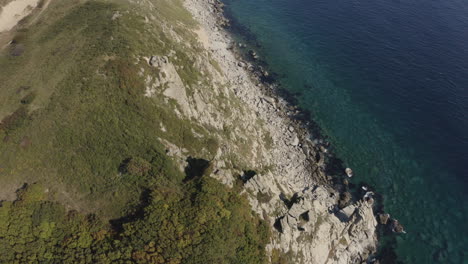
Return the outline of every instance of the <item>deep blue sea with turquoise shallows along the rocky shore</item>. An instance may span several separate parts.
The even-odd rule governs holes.
[[[405,226],[398,261],[468,263],[468,2],[224,2]]]

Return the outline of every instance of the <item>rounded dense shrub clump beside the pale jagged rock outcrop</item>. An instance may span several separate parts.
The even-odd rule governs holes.
[[[246,208],[221,183],[198,178],[183,192],[153,192],[144,217],[124,225],[122,243],[142,263],[263,263],[268,227]]]

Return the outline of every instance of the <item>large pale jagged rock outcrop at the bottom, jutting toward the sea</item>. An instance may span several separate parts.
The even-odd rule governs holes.
[[[339,210],[337,193],[315,186],[297,193],[288,208],[278,195],[281,186],[268,184],[271,178],[257,175],[246,184],[249,192],[271,196],[268,204],[252,201],[275,227],[270,250],[293,252],[293,263],[366,263],[376,247],[377,221],[369,203],[360,201]]]

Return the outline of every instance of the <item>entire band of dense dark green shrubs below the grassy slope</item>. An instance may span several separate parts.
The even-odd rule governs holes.
[[[151,191],[118,230],[66,212],[40,185],[0,207],[1,263],[265,263],[268,226],[210,177]]]

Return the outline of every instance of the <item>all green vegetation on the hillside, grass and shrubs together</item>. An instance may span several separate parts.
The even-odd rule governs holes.
[[[144,96],[150,55],[204,81],[190,14],[151,2],[52,1],[0,51],[0,183],[41,183],[1,203],[1,263],[265,262],[268,227],[208,176],[214,129]],[[196,157],[185,173],[165,142]]]

